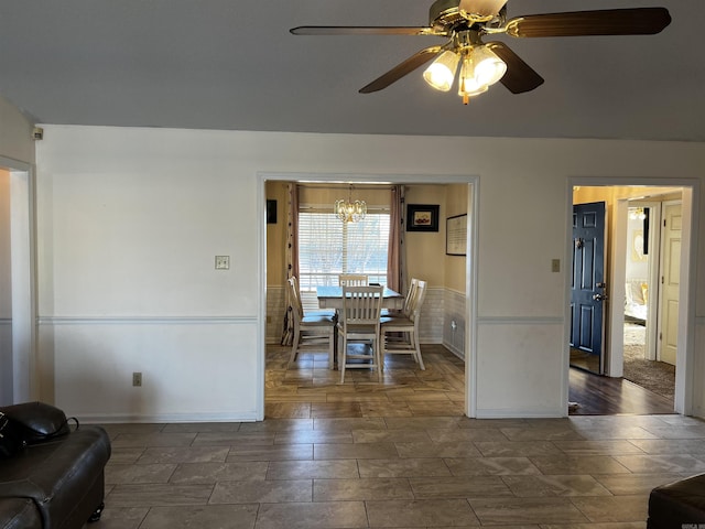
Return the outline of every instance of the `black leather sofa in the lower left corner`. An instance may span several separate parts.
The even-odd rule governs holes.
[[[41,402],[0,408],[32,432],[0,460],[0,529],[80,529],[100,518],[110,440],[96,425],[70,429],[64,412]]]

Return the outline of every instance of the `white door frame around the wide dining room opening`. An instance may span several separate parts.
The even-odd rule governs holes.
[[[408,185],[465,184],[467,185],[467,259],[465,268],[465,414],[477,417],[477,261],[478,261],[478,218],[479,218],[479,176],[469,174],[347,174],[347,173],[269,173],[257,174],[258,201],[258,252],[259,282],[261,299],[259,303],[258,325],[262,330],[258,336],[258,420],[264,419],[264,375],[267,353],[267,193],[268,181],[316,182],[316,183],[389,183]]]

